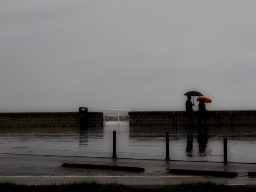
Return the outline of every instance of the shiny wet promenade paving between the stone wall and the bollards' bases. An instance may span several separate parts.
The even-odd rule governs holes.
[[[114,130],[118,158],[165,159],[165,132],[169,132],[171,160],[223,162],[223,137],[227,137],[229,162],[256,163],[256,130],[248,126],[6,127],[0,129],[0,153],[111,157]]]

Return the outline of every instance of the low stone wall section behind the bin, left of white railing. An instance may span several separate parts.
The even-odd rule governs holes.
[[[88,112],[88,125],[103,125],[102,112]],[[0,113],[0,127],[76,127],[78,112]]]

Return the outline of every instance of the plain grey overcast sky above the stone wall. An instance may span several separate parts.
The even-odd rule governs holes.
[[[255,0],[0,0],[0,112],[256,110],[255,64]]]

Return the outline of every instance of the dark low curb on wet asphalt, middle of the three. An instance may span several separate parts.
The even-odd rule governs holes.
[[[228,178],[235,178],[236,176],[238,176],[236,172],[225,172],[225,171],[170,169],[169,172],[175,173],[175,174],[182,174],[182,175],[201,175],[201,176],[228,177]]]

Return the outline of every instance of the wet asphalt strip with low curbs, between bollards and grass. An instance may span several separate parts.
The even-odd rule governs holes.
[[[132,166],[144,168],[144,172],[62,167],[63,163]],[[169,169],[193,169],[236,172],[235,178],[213,176],[189,176],[170,174]],[[213,163],[195,161],[165,161],[149,159],[93,158],[74,156],[0,154],[0,181],[24,184],[50,184],[80,181],[122,183],[126,185],[167,185],[182,182],[212,181],[226,184],[256,184],[256,178],[248,177],[256,171],[256,164]]]

